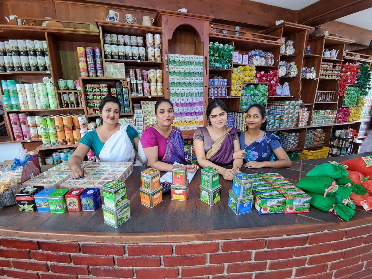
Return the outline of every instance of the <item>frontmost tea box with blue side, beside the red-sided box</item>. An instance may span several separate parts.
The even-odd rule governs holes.
[[[254,208],[258,214],[284,213],[286,199],[278,191],[260,193],[253,190],[253,193]]]

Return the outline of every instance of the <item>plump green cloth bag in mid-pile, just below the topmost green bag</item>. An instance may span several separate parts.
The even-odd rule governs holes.
[[[296,186],[302,190],[322,195],[326,193],[326,195],[334,196],[338,193],[344,199],[349,199],[351,194],[350,187],[338,185],[338,187],[335,186],[334,189],[332,189],[332,183],[335,184],[336,182],[333,178],[328,176],[305,176],[297,182]]]

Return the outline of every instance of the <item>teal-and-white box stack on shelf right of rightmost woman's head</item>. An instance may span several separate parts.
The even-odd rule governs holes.
[[[267,103],[267,108],[271,113],[280,115],[279,128],[297,126],[299,107],[299,101],[270,101]]]

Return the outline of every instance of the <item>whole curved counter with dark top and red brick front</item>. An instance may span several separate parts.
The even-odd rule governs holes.
[[[244,172],[276,171],[296,183],[314,166],[328,160],[294,161],[290,169]],[[221,176],[222,200],[214,206],[199,200],[200,170],[190,183],[187,202],[171,201],[170,193],[166,193],[163,202],[150,209],[141,205],[138,190],[138,178],[144,168],[134,167],[126,180],[132,217],[119,228],[103,222],[101,208],[63,214],[19,212],[17,206],[0,208],[0,276],[35,279],[193,276],[249,279],[253,274],[257,279],[269,278],[268,273],[275,278],[308,278],[312,274],[319,278],[343,274],[355,274],[355,278],[370,276],[371,212],[357,208],[350,222],[313,207],[304,214],[259,215],[253,209],[251,213],[235,215],[227,206],[232,183]],[[27,276],[23,269],[28,270]]]

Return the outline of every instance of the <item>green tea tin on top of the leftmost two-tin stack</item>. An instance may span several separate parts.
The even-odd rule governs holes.
[[[105,206],[116,209],[126,201],[125,182],[112,180],[102,187]]]

